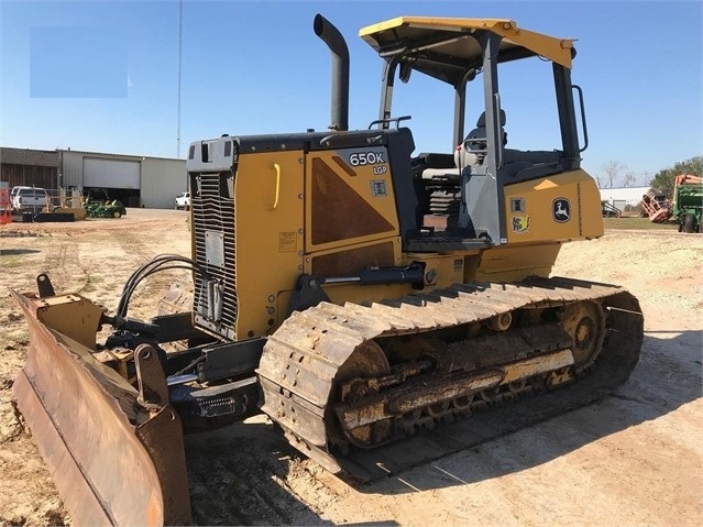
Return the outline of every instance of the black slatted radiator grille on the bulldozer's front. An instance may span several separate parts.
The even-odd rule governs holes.
[[[196,273],[194,310],[197,326],[235,338],[234,193],[231,172],[191,174],[195,260],[221,292],[221,311],[212,312],[208,283]],[[215,242],[213,242],[215,240]],[[213,245],[216,250],[213,250]],[[211,295],[210,295],[211,296]]]

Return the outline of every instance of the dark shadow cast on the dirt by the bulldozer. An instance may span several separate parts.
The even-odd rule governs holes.
[[[349,483],[361,493],[417,492],[405,477],[415,466],[437,471],[435,477],[422,479],[422,491],[429,490],[428,484],[430,488],[442,488],[491,480],[540,465],[600,438],[657,419],[702,396],[702,342],[701,331],[648,332],[640,361],[625,385],[591,405],[539,425],[549,427],[553,441],[539,449],[526,442],[519,460],[488,469],[482,463],[480,470],[471,462],[473,455],[483,455],[481,444],[534,426],[530,405],[524,404],[534,399],[504,405],[441,431],[418,433],[407,441],[364,453],[383,466],[378,471],[383,475],[367,483]],[[549,395],[558,394],[556,391]],[[286,483],[296,477],[314,481],[312,474],[296,473],[305,472],[297,462],[301,454],[288,446],[273,425],[261,417],[254,419],[255,422],[187,438],[194,520],[199,525],[325,524]],[[460,442],[459,433],[473,437]],[[407,462],[406,453],[417,453],[419,449],[420,455],[410,455],[415,462]],[[465,465],[461,473],[450,473],[441,466],[441,459],[459,451],[464,453]]]

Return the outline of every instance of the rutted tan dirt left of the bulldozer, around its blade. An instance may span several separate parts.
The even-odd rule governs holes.
[[[10,224],[0,230],[0,526],[72,523],[13,404],[13,380],[26,359],[29,336],[8,287],[35,292],[34,277],[47,272],[56,293],[80,293],[112,307],[138,265],[189,243],[185,229],[178,237],[180,217],[158,212],[149,222],[138,213],[128,220]]]

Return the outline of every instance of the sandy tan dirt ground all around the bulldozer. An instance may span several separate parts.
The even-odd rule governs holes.
[[[8,288],[57,292],[114,309],[138,265],[189,254],[186,213],[130,209],[119,220],[0,226],[0,525],[70,524],[12,402],[28,329]],[[629,382],[582,409],[351,486],[287,446],[263,417],[188,437],[200,525],[691,525],[703,524],[703,238],[607,231],[567,244],[554,274],[626,286],[646,339]],[[149,316],[172,276],[138,289]]]

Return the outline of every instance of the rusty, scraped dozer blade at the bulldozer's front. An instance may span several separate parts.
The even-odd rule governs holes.
[[[31,339],[14,396],[76,525],[189,523],[183,431],[155,351],[135,352],[138,391],[91,354],[101,308],[11,293]]]

